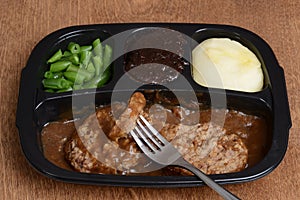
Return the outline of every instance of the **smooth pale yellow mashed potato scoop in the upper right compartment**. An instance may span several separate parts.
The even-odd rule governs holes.
[[[237,41],[211,38],[192,52],[193,78],[206,87],[257,92],[264,76],[256,55]]]

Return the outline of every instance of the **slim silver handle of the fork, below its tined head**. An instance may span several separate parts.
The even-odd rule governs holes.
[[[198,168],[187,162],[182,157],[176,160],[174,165],[181,166],[191,172],[193,172],[196,176],[198,176],[207,186],[215,190],[219,195],[221,195],[224,199],[228,200],[239,200],[237,196],[226,190],[225,188],[221,187],[219,184],[214,182],[211,178],[209,178],[207,175],[205,175],[202,171],[200,171]]]

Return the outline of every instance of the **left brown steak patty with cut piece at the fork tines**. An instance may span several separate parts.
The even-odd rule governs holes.
[[[128,132],[134,128],[145,105],[144,95],[136,92],[116,121],[111,109],[98,109],[66,143],[66,160],[80,172],[119,174],[130,171],[138,163],[139,154],[135,154],[136,144]]]

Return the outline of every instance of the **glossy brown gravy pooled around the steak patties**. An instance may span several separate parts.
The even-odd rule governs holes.
[[[110,106],[102,109],[110,110]],[[200,122],[210,121],[212,110],[202,110]],[[239,135],[248,148],[247,167],[254,166],[263,159],[269,149],[269,135],[267,122],[264,118],[247,115],[245,113],[227,110],[224,128],[228,133]],[[58,121],[48,123],[42,130],[41,140],[45,157],[58,167],[73,170],[64,158],[64,143],[75,131],[73,121]],[[169,175],[164,174],[164,170],[159,172],[147,173],[145,175]]]

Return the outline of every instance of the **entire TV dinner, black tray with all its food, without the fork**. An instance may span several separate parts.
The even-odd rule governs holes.
[[[115,38],[123,32],[126,37]],[[116,88],[122,77],[126,84]],[[183,79],[190,88],[182,87]],[[16,123],[26,159],[56,180],[203,185],[179,167],[140,170],[153,164],[129,134],[142,115],[216,182],[238,183],[264,177],[284,157],[291,127],[287,99],[272,49],[243,28],[85,25],[57,30],[33,49],[22,71]]]

